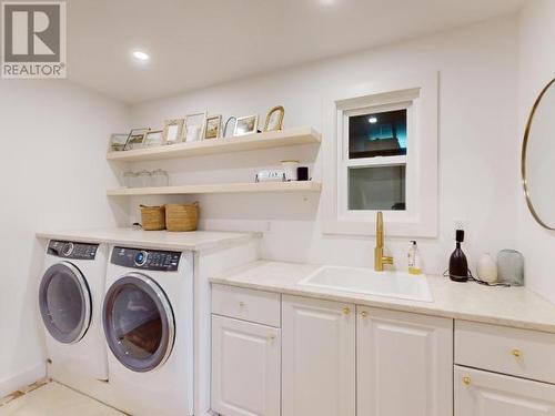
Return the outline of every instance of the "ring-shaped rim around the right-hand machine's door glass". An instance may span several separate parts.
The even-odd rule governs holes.
[[[112,346],[112,342],[115,339],[112,336],[111,319],[109,322],[109,316],[108,316],[108,312],[109,312],[108,308],[110,307],[110,304],[113,303],[112,300],[115,297],[114,295],[117,295],[117,293],[118,293],[117,291],[120,287],[124,287],[124,285],[128,283],[133,283],[133,281],[141,282],[143,285],[149,287],[151,290],[151,292],[155,295],[155,300],[158,300],[158,302],[159,302],[159,303],[157,303],[157,306],[159,306],[159,305],[161,306],[161,308],[158,307],[159,313],[160,313],[160,315],[163,314],[163,316],[164,316],[164,319],[162,322],[165,323],[168,326],[167,327],[168,342],[167,342],[164,354],[161,356],[161,358],[159,361],[157,361],[155,365],[153,365],[151,367],[144,367],[144,368],[130,365],[129,363],[124,362],[121,358],[121,354],[119,351],[114,351],[114,347]],[[139,286],[139,288],[141,288],[141,286]],[[151,295],[151,294],[149,294],[149,295]],[[159,368],[160,366],[162,366],[170,357],[172,349],[173,349],[173,344],[175,342],[175,318],[173,315],[173,310],[171,307],[171,304],[168,300],[168,296],[165,295],[162,287],[157,282],[154,282],[151,277],[149,277],[144,274],[141,274],[141,273],[137,273],[137,272],[127,273],[127,274],[120,276],[108,288],[105,296],[104,296],[103,307],[102,307],[102,326],[104,328],[104,337],[105,337],[105,341],[108,343],[108,346],[109,346],[110,351],[112,352],[112,354],[115,356],[115,358],[118,358],[118,361],[127,368],[129,368],[133,372],[138,372],[138,373],[152,372],[152,371]]]

